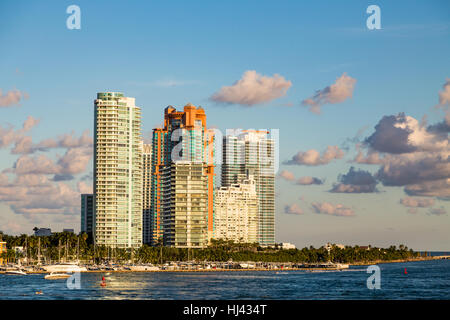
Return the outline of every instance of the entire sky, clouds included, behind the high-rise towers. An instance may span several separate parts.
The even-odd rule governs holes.
[[[66,8],[81,9],[69,30]],[[381,30],[368,30],[369,5]],[[94,99],[279,129],[276,241],[449,250],[448,1],[3,1],[0,230],[80,229]]]

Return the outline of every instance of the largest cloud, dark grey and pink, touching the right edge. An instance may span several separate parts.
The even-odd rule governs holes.
[[[357,163],[379,164],[374,178],[402,186],[409,196],[450,199],[450,145],[446,121],[427,125],[404,113],[384,116],[357,146]],[[366,149],[366,155],[362,152]]]

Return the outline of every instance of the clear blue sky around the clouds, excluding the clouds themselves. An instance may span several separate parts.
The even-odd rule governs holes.
[[[71,4],[81,8],[81,30],[66,28]],[[381,30],[366,28],[371,4],[381,8]],[[3,94],[17,89],[29,98],[0,108],[0,125],[17,129],[31,115],[40,119],[29,133],[35,143],[72,131],[79,137],[86,129],[92,133],[96,92],[121,91],[142,107],[144,133],[161,123],[165,106],[191,102],[203,106],[208,124],[222,130],[280,129],[282,161],[299,151],[348,146],[342,159],[326,165],[281,165],[296,177],[325,182],[293,186],[277,179],[277,241],[446,250],[448,213],[427,214],[428,207],[408,213],[410,207],[399,203],[409,196],[404,186],[380,182],[373,193],[329,190],[351,166],[372,174],[379,169],[349,162],[355,145],[344,143],[358,130],[364,129],[364,139],[383,116],[399,112],[418,121],[427,115],[429,124],[442,121],[443,112],[434,107],[450,77],[449,12],[448,1],[2,1],[0,89]],[[279,74],[292,85],[285,95],[252,106],[209,99],[248,70]],[[356,79],[350,98],[323,105],[319,115],[301,105],[344,72]],[[18,158],[11,147],[0,148],[0,170],[12,168]],[[46,155],[55,160],[64,152]],[[91,167],[66,183],[76,190]],[[425,198],[433,199],[433,208],[450,210],[442,197]],[[314,202],[342,204],[355,215],[316,214]],[[303,214],[284,213],[294,203]],[[33,223],[56,231],[79,228],[76,210],[39,220],[10,204],[0,200],[5,232],[31,232]]]

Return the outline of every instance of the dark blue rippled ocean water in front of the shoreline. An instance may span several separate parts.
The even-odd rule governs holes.
[[[378,266],[378,290],[367,288],[366,266],[318,272],[82,273],[80,289],[69,289],[66,280],[45,280],[43,274],[0,274],[0,299],[450,299],[450,260]],[[106,287],[100,286],[103,276]],[[35,294],[39,290],[42,295]]]

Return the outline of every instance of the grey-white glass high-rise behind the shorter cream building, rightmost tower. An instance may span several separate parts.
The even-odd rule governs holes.
[[[258,243],[275,244],[275,139],[266,130],[244,130],[223,138],[222,186],[253,175],[258,195]]]

